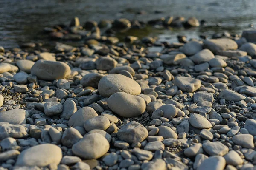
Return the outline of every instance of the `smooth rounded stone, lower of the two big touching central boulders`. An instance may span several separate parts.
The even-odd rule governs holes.
[[[140,96],[118,92],[108,98],[108,107],[119,116],[134,117],[144,113],[146,103]]]

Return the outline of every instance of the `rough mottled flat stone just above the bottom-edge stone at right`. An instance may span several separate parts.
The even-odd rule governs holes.
[[[202,144],[205,152],[210,156],[223,156],[228,153],[228,147],[221,142],[205,142]]]

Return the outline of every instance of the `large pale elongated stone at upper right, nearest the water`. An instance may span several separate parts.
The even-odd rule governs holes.
[[[210,39],[204,40],[204,48],[209,49],[216,54],[217,51],[220,50],[236,50],[238,48],[237,43],[229,38],[218,38],[218,39]]]

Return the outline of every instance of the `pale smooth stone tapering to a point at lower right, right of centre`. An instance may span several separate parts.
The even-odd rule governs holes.
[[[190,116],[189,123],[198,129],[208,129],[212,127],[212,124],[207,119],[205,119],[204,116],[196,113]]]

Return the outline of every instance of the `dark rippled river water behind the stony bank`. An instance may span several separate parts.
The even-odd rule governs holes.
[[[156,36],[176,40],[178,34],[197,38],[199,34],[242,30],[256,25],[254,0],[0,0],[0,46],[17,47],[22,42],[36,42],[44,27],[69,23],[77,16],[80,23],[87,20],[128,18],[131,20],[156,19],[166,16],[195,16],[206,20],[209,26],[184,29],[129,31],[125,34]],[[137,14],[144,11],[145,14]],[[154,11],[162,11],[155,14]],[[220,26],[214,25],[220,23]]]

